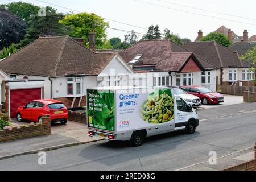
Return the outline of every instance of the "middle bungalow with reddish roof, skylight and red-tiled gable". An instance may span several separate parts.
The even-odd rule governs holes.
[[[140,40],[125,50],[98,52],[121,55],[141,79],[135,85],[205,85],[216,90],[218,67],[171,40]]]

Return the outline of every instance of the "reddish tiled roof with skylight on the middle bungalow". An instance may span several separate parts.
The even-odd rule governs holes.
[[[170,40],[140,40],[125,50],[101,50],[100,52],[118,52],[127,63],[138,54],[142,54],[143,64],[155,64],[155,70],[158,71],[179,71],[193,55],[191,51]],[[199,61],[204,68],[217,69],[204,59],[199,58],[196,61]]]

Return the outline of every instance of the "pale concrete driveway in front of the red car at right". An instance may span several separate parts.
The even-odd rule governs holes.
[[[224,102],[220,104],[214,104],[214,105],[201,105],[201,107],[199,107],[199,110],[243,103],[243,96],[233,96],[233,95],[223,95],[223,96],[224,96]]]

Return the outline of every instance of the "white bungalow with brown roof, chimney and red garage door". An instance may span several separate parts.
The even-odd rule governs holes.
[[[131,67],[118,53],[96,53],[68,36],[42,37],[0,61],[0,101],[11,118],[18,106],[40,98],[55,98],[68,108],[86,104],[86,88],[105,80],[126,85]],[[114,74],[111,73],[114,70]],[[110,76],[111,75],[111,76]]]

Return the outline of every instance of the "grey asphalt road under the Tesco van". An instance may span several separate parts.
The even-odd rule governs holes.
[[[251,112],[239,112],[240,107]],[[232,106],[221,108],[232,114]],[[211,112],[209,109],[200,111],[206,120],[200,122],[193,135],[179,131],[150,137],[141,147],[129,147],[124,142],[94,142],[48,151],[46,165],[38,164],[36,154],[0,160],[0,170],[223,169],[241,163],[234,158],[249,152],[246,149],[256,142],[255,104],[234,108],[234,115],[213,119],[209,117],[220,116],[213,114],[217,108]],[[235,112],[236,108],[238,112]],[[205,117],[207,114],[208,118]],[[223,158],[218,159],[216,165],[209,165],[209,151],[216,151],[217,158]]]

